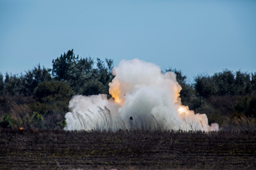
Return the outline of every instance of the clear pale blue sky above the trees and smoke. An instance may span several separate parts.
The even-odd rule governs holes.
[[[69,49],[116,66],[138,58],[191,79],[255,72],[256,1],[0,0],[0,72],[51,68]]]

